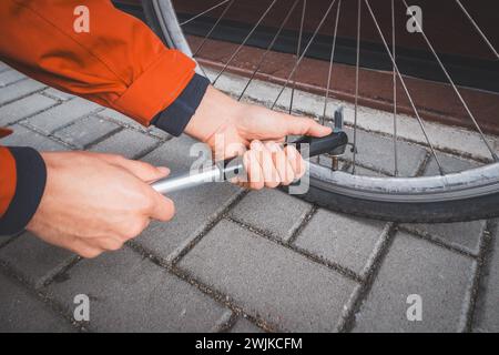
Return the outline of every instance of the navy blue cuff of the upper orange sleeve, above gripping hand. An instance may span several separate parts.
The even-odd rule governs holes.
[[[156,114],[151,123],[174,136],[181,135],[196,112],[208,85],[210,80],[194,74],[180,97]]]

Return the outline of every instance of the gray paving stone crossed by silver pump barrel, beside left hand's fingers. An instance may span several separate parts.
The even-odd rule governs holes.
[[[195,141],[174,139],[156,149],[143,161],[166,165],[172,174],[187,172],[195,158],[189,154]],[[153,222],[136,241],[167,261],[192,241],[237,196],[241,189],[230,183],[212,183],[169,195],[175,203],[176,214],[167,223]]]

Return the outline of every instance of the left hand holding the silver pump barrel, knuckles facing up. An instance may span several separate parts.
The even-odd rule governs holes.
[[[173,202],[149,185],[165,178],[166,168],[85,152],[42,156],[47,185],[28,230],[48,243],[94,257],[120,248],[151,219],[174,215]]]

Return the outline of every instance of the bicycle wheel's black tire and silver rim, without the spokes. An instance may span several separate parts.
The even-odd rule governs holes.
[[[170,48],[192,55],[170,0],[143,0],[147,23]],[[445,223],[499,215],[499,163],[431,178],[370,178],[310,163],[301,199],[342,213],[404,223]],[[283,189],[288,190],[288,189]]]

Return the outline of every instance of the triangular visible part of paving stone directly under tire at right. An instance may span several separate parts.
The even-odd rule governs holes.
[[[473,221],[466,223],[437,224],[403,224],[409,231],[429,235],[448,245],[462,248],[478,255],[486,222]]]

